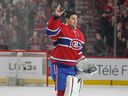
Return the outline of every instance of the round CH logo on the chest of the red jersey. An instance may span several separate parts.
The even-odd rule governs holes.
[[[82,48],[82,42],[78,39],[73,39],[70,46],[75,50],[80,50]]]

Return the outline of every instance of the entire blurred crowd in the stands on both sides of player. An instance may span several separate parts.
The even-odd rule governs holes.
[[[86,56],[128,56],[128,0],[0,0],[0,50],[49,50],[47,20],[57,4],[78,14]]]

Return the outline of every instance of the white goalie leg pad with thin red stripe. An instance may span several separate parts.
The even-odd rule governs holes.
[[[64,96],[79,96],[81,86],[82,80],[78,81],[75,76],[67,76]]]

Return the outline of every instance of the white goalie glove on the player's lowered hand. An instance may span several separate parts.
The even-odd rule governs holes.
[[[88,62],[86,59],[80,60],[77,63],[76,68],[78,70],[78,75],[82,76],[91,76],[97,72],[97,67],[95,66],[95,64]]]

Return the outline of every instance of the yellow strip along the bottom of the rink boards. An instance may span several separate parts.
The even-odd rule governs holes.
[[[6,84],[7,79],[0,78],[0,84]],[[24,84],[42,84],[46,82],[45,80],[39,79],[25,79]],[[49,79],[49,85],[54,85],[54,81]],[[84,85],[123,85],[128,86],[128,80],[84,80]]]

